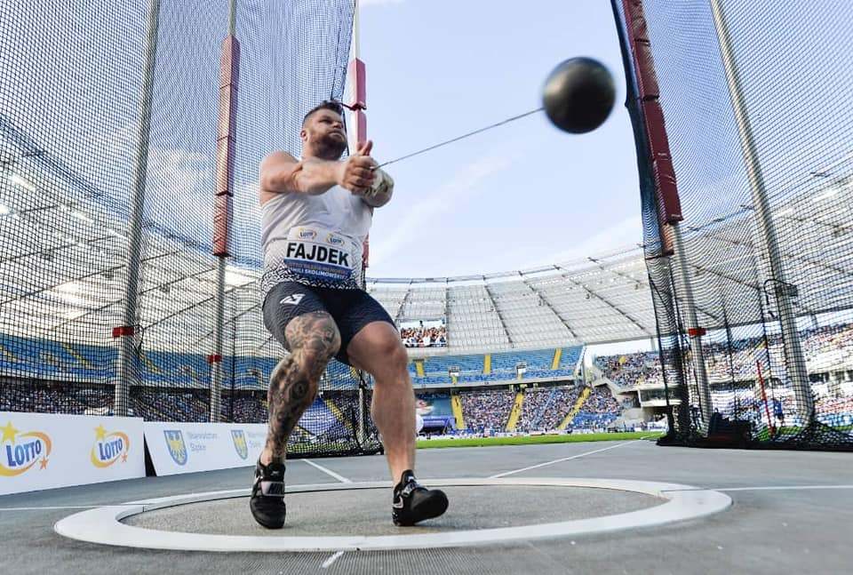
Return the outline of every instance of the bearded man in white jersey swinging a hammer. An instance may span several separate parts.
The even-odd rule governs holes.
[[[255,469],[250,508],[269,529],[283,527],[287,439],[314,402],[332,357],[373,376],[371,416],[394,484],[392,519],[413,525],[442,515],[447,497],[415,479],[415,397],[394,320],[361,289],[363,243],[373,210],[393,181],[371,158],[371,141],[347,149],[343,110],[323,102],[307,113],[302,156],[273,152],[260,164],[264,323],[290,355],[269,382],[267,443]]]

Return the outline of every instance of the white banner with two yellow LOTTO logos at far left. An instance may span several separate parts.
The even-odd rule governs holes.
[[[0,495],[145,476],[142,419],[0,411]]]

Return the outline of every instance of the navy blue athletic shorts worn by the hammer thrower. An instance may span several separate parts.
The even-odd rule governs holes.
[[[385,307],[371,298],[367,291],[320,288],[299,282],[276,284],[267,293],[267,299],[264,299],[264,324],[273,337],[290,351],[291,347],[284,337],[287,324],[298,315],[315,311],[328,313],[338,325],[340,351],[335,357],[347,365],[350,365],[347,346],[365,325],[371,322],[394,325]]]

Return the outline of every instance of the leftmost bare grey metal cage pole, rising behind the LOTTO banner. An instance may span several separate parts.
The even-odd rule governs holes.
[[[130,390],[139,385],[136,370],[137,352],[133,338],[138,324],[140,263],[142,259],[142,218],[145,210],[145,187],[148,171],[148,144],[151,138],[151,108],[154,95],[154,69],[157,56],[157,36],[160,27],[160,0],[148,4],[145,70],[142,74],[140,98],[140,124],[137,132],[134,161],[131,217],[127,230],[127,281],[124,284],[123,325],[113,328],[113,338],[119,338],[118,370],[113,412],[119,416],[130,414]]]

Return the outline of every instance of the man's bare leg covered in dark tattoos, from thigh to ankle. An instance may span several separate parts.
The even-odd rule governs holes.
[[[293,427],[314,403],[320,375],[340,348],[338,326],[323,311],[293,318],[284,335],[291,355],[275,366],[269,379],[269,431],[260,454],[264,465],[283,461]]]

